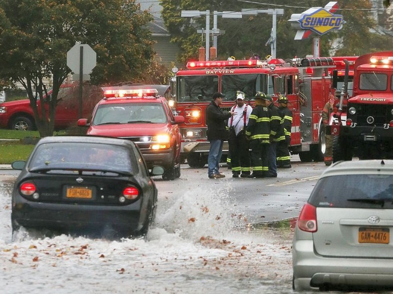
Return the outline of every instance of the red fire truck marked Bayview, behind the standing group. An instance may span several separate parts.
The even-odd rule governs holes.
[[[231,59],[231,58],[230,58]],[[331,57],[269,58],[259,60],[193,61],[186,69],[174,68],[176,94],[172,104],[175,115],[185,117],[180,124],[181,154],[191,167],[207,163],[209,142],[206,138],[205,109],[215,92],[225,94],[222,111],[235,105],[236,91],[246,94],[246,103],[254,105],[256,92],[277,100],[286,95],[293,112],[291,154],[301,161],[322,161],[322,109],[331,93],[329,71],[336,67]],[[228,145],[224,143],[223,154]]]

